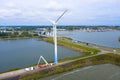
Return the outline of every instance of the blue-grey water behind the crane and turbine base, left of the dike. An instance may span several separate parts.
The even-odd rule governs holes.
[[[80,54],[80,52],[58,46],[59,59]],[[53,44],[36,39],[0,41],[0,72],[11,68],[22,68],[37,64],[40,55],[44,56],[47,61],[53,61]]]

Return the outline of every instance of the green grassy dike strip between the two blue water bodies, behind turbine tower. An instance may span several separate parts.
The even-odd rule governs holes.
[[[53,43],[53,38],[44,38],[43,40]],[[88,46],[81,46],[77,43],[73,43],[72,39],[69,39],[69,38],[60,37],[60,38],[58,38],[57,42],[61,46],[65,46],[67,48],[70,48],[70,49],[73,49],[73,50],[76,50],[76,51],[80,51],[80,52],[83,52],[83,53],[96,54],[96,53],[100,52],[100,50],[97,50],[95,48],[91,48],[91,47],[88,47]]]

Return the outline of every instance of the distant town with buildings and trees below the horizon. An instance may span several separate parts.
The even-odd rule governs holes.
[[[58,26],[58,31],[80,30],[84,32],[106,32],[120,30],[120,26]],[[52,37],[51,26],[0,26],[0,38],[16,37]]]

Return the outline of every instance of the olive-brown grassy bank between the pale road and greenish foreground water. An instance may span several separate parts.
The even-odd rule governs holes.
[[[105,63],[111,63],[120,66],[120,55],[108,53],[94,57],[89,57],[82,60],[77,60],[71,63],[67,63],[61,66],[49,68],[37,73],[23,75],[21,76],[20,80],[36,80],[42,77],[70,71],[75,68],[80,68],[89,65],[105,64]]]

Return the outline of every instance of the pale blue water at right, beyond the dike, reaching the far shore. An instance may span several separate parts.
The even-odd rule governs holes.
[[[108,32],[82,32],[82,31],[61,31],[59,35],[70,37],[74,40],[97,44],[100,46],[120,48],[120,31]]]

